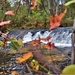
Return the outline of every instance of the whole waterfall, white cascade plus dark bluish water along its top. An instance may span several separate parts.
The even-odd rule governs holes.
[[[23,35],[20,35],[20,33],[23,33]],[[8,36],[15,35],[16,38],[21,37],[23,39],[23,43],[30,42],[34,39],[40,38],[46,38],[47,36],[51,36],[52,38],[49,40],[49,42],[55,43],[56,47],[71,47],[71,34],[72,34],[72,28],[71,27],[62,27],[57,28],[54,30],[48,30],[48,29],[31,29],[31,30],[13,30],[10,31]],[[2,39],[3,37],[0,37]],[[41,40],[41,43],[47,43],[48,41]]]

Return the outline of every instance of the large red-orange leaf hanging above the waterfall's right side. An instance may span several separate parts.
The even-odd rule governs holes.
[[[63,13],[53,14],[50,16],[50,30],[55,29],[60,26],[61,20],[64,17],[67,10],[65,9]]]

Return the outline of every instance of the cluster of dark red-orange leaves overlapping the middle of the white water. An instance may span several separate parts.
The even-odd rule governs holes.
[[[35,40],[32,40],[31,42],[29,42],[29,44],[31,44],[32,46],[39,46],[39,48],[47,48],[49,50],[52,50],[54,48],[54,43],[49,42],[49,40],[51,39],[51,36],[47,36],[46,38],[38,38]],[[41,44],[41,41],[45,41],[47,42],[46,44]]]

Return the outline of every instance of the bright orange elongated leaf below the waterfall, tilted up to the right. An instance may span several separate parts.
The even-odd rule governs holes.
[[[32,56],[33,56],[32,52],[28,52],[26,54],[23,54],[22,56],[16,58],[17,63],[22,63],[22,62],[28,60]]]

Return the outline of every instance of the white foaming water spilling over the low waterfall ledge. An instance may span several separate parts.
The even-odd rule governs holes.
[[[51,36],[52,38],[49,40],[50,42],[55,43],[55,46],[57,47],[71,47],[71,34],[72,30],[67,28],[59,28],[52,31],[44,31],[44,33],[41,33],[41,31],[36,32],[34,35],[32,32],[28,32],[23,37],[23,43],[32,41],[34,39],[40,38],[46,38],[47,36]],[[33,35],[33,36],[32,36]],[[47,43],[48,41],[41,40],[42,43]]]

